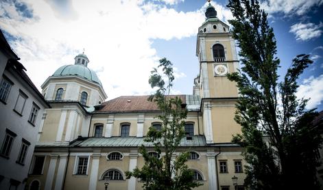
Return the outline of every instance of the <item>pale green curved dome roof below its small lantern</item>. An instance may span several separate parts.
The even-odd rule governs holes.
[[[101,81],[97,77],[97,74],[94,70],[91,68],[87,68],[86,66],[82,65],[67,65],[67,66],[61,66],[56,70],[53,75],[53,77],[64,77],[64,76],[78,76],[82,77],[84,79],[87,79],[88,81],[98,83],[101,85]]]

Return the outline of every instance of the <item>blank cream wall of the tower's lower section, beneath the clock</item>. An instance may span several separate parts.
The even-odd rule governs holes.
[[[241,126],[235,122],[235,101],[213,101],[211,108],[213,141],[231,142],[232,135],[241,133]]]

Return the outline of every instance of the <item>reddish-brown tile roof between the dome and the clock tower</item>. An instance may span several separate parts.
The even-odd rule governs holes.
[[[170,95],[169,97],[178,96],[185,103],[185,95]],[[156,103],[147,100],[149,96],[120,96],[108,100],[101,104],[101,109],[95,112],[132,112],[132,111],[158,111]]]

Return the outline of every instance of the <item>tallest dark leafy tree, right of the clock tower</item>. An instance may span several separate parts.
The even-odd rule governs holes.
[[[250,189],[318,189],[315,152],[322,138],[311,124],[317,113],[305,109],[307,100],[295,95],[297,79],[312,61],[297,55],[278,81],[276,39],[259,2],[229,0],[227,6],[241,49],[241,73],[228,74],[228,79],[237,82],[241,94],[235,120],[242,134],[233,141],[245,148],[245,183]]]

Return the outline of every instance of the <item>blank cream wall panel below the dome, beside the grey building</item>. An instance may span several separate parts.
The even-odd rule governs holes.
[[[47,109],[47,116],[44,120],[43,132],[39,141],[56,141],[58,124],[60,123],[61,111],[58,109]]]

